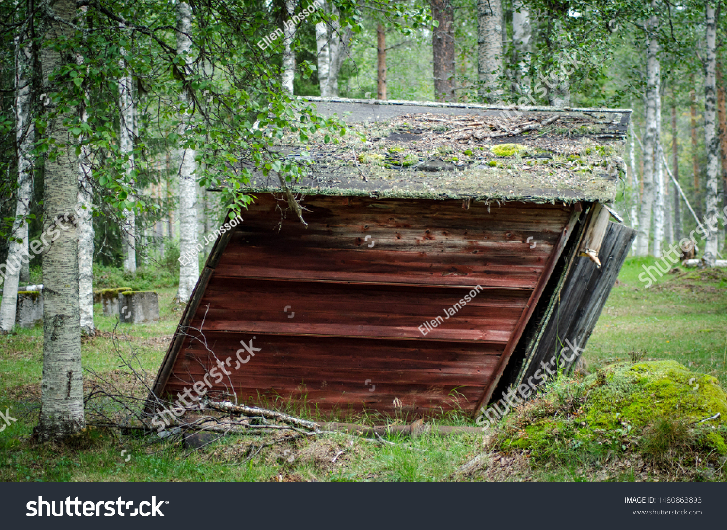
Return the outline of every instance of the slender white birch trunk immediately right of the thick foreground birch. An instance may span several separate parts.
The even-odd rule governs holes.
[[[88,7],[81,7],[81,12],[86,12]],[[84,57],[76,55],[76,63],[84,62]],[[88,95],[86,95],[88,97]],[[88,114],[85,105],[81,105],[81,120],[88,122]],[[78,179],[79,195],[78,201],[81,208],[79,212],[79,313],[81,316],[81,332],[92,335],[95,333],[93,323],[93,222],[92,222],[92,186],[91,186],[91,161],[89,148],[83,145],[84,137],[79,136],[81,153],[79,155]]]

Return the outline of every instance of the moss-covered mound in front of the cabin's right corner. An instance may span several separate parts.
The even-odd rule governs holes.
[[[535,458],[635,452],[684,463],[716,462],[727,454],[726,438],[727,396],[714,377],[648,361],[607,366],[582,380],[558,378],[507,417],[493,441]]]

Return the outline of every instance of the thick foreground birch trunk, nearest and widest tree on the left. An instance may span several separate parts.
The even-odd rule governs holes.
[[[46,39],[70,36],[76,12],[73,0],[50,3],[45,12]],[[43,92],[55,92],[49,76],[65,64],[60,52],[47,44],[42,50]],[[52,110],[53,103],[48,105]],[[52,243],[43,256],[43,384],[39,440],[65,438],[84,427],[81,326],[79,318],[78,230],[73,210],[78,199],[74,158],[76,140],[63,125],[68,115],[52,119],[45,134],[55,145],[67,146],[45,161],[43,231]]]

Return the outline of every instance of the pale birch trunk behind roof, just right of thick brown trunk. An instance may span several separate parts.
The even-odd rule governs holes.
[[[500,100],[499,76],[502,74],[501,0],[477,0],[478,73],[480,99],[487,103]]]

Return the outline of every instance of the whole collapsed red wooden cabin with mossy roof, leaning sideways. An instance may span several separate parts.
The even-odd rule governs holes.
[[[635,237],[604,207],[630,111],[308,99],[351,129],[285,147],[308,226],[276,175],[243,190],[156,396],[474,415],[585,348]]]

